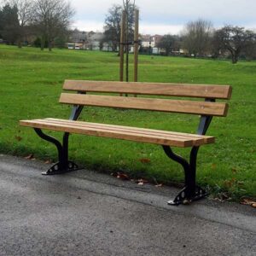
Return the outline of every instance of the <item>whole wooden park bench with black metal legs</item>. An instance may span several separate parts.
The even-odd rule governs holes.
[[[59,102],[73,105],[69,119],[20,120],[20,125],[32,127],[39,137],[54,143],[58,150],[58,162],[43,174],[61,174],[78,170],[78,166],[68,160],[68,137],[70,133],[118,138],[160,145],[169,158],[183,166],[184,188],[173,201],[168,202],[169,204],[178,205],[195,201],[207,195],[207,192],[195,183],[196,158],[198,149],[202,145],[214,143],[214,137],[206,136],[212,117],[227,115],[228,104],[216,102],[216,99],[230,99],[231,87],[229,85],[66,80],[63,89],[78,92],[61,93]],[[131,94],[132,96],[123,96],[124,94]],[[171,96],[174,98],[170,98]],[[200,115],[200,122],[197,132],[190,134],[78,121],[84,106],[190,113]],[[62,143],[54,137],[46,135],[42,129],[63,131]],[[189,160],[175,154],[172,151],[173,147],[191,148]]]

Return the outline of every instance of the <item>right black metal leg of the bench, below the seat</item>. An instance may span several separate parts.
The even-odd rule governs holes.
[[[175,206],[180,204],[189,204],[191,201],[196,201],[205,197],[207,195],[206,191],[201,189],[195,183],[196,157],[199,147],[193,147],[191,149],[189,162],[183,159],[180,155],[173,153],[171,147],[163,145],[163,148],[169,158],[183,166],[185,174],[184,188],[177,194],[173,201],[168,201],[168,204]]]

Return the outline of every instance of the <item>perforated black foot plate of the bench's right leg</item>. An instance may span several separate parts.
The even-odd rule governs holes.
[[[190,195],[188,189],[185,187],[183,188],[175,197],[173,201],[168,201],[168,205],[170,206],[178,206],[178,205],[189,205],[192,201],[200,200],[206,197],[208,194],[204,189],[201,189],[199,186],[195,186],[195,193],[194,195]]]

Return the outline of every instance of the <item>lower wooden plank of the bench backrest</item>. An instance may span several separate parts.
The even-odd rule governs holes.
[[[192,113],[226,116],[228,104],[217,102],[194,102],[155,98],[131,98],[120,96],[96,96],[62,93],[61,103],[109,108],[131,108],[173,113]]]

